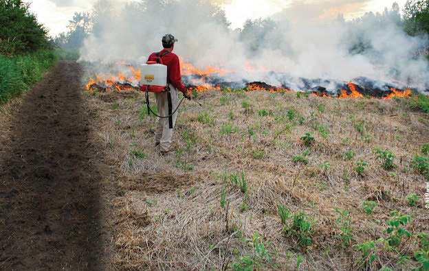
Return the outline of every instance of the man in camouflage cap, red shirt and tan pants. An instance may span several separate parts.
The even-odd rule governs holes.
[[[162,47],[164,49],[158,53],[162,58],[162,63],[167,66],[167,84],[170,88],[171,107],[173,110],[177,108],[178,92],[184,94],[187,99],[190,99],[185,86],[181,83],[179,58],[173,54],[174,45],[178,40],[171,34],[166,34],[162,37]],[[151,54],[148,61],[156,61],[157,53]],[[155,93],[157,110],[160,116],[168,116],[168,93]],[[171,141],[173,139],[173,129],[176,123],[177,112],[171,118],[157,118],[155,128],[155,147],[159,145],[160,153],[167,155],[173,152],[171,150]]]

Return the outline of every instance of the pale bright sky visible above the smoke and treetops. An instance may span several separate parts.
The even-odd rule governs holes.
[[[67,32],[74,12],[89,12],[96,0],[24,0],[31,3],[31,11],[50,31],[50,36]],[[115,0],[118,5],[129,0]],[[382,12],[391,8],[395,0],[212,0],[221,5],[231,27],[241,27],[246,19],[266,18],[299,21],[326,21],[344,14],[346,19],[365,12]],[[396,0],[404,8],[406,0]],[[305,15],[303,15],[305,14]]]

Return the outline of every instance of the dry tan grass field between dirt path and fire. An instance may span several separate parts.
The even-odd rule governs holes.
[[[119,270],[222,270],[244,255],[262,270],[294,270],[300,255],[300,269],[362,269],[360,253],[334,237],[340,233],[335,208],[351,213],[352,244],[386,237],[393,210],[412,216],[406,228],[413,235],[428,232],[425,178],[407,171],[412,155],[428,143],[428,116],[395,99],[206,91],[197,97],[203,108],[184,103],[175,129],[177,152],[162,157],[153,142],[155,119],[147,116],[142,94],[87,97],[97,111],[105,152],[120,169],[111,202]],[[315,139],[308,148],[301,140],[306,132]],[[391,150],[397,167],[382,169],[374,148]],[[344,158],[347,151],[354,154],[350,161]],[[303,152],[307,165],[294,163]],[[354,170],[361,159],[368,164],[363,176]],[[230,178],[242,173],[245,193]],[[227,203],[221,208],[223,188]],[[409,193],[419,196],[417,207],[406,204]],[[372,214],[364,213],[364,200],[377,204]],[[280,204],[307,215],[311,246],[300,246],[282,231]],[[243,241],[256,232],[267,242],[274,266],[255,257]],[[412,257],[415,244],[404,243],[402,255]],[[417,266],[398,264],[398,256],[381,244],[375,254],[372,270]]]

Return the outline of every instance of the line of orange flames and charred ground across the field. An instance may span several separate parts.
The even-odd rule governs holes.
[[[112,69],[114,67],[114,69]],[[245,64],[245,71],[248,73],[255,72],[256,69]],[[110,91],[131,91],[138,90],[140,84],[140,70],[135,65],[116,62],[111,64],[108,73],[98,73],[89,78],[86,90],[93,93],[110,92]],[[120,72],[112,73],[112,70]],[[283,75],[274,73],[265,68],[259,68],[258,72],[276,75],[281,78]],[[182,82],[186,89],[191,92],[202,91],[233,91],[243,89],[243,91],[267,91],[267,92],[304,92],[311,93],[318,97],[331,97],[336,99],[369,97],[371,99],[391,99],[393,97],[410,97],[413,93],[419,93],[416,89],[410,87],[399,87],[384,82],[371,80],[369,78],[355,78],[350,82],[340,82],[337,80],[310,80],[306,78],[297,78],[299,86],[295,88],[287,85],[287,76],[281,86],[272,86],[265,82],[247,80],[227,81],[225,75],[233,73],[216,67],[206,67],[197,69],[188,62],[181,61]],[[113,75],[114,74],[114,75]],[[326,87],[327,85],[331,87]]]

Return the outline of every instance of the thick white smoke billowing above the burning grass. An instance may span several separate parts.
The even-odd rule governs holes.
[[[171,33],[179,39],[177,55],[195,67],[233,71],[230,80],[283,83],[284,78],[256,72],[260,70],[286,73],[292,81],[300,77],[347,81],[364,76],[428,89],[428,60],[415,54],[428,47],[428,38],[404,33],[397,8],[330,23],[289,23],[282,14],[287,10],[274,16],[275,27],[248,27],[247,33],[240,34],[225,25],[223,12],[207,0],[147,0],[122,7],[99,1],[94,31],[85,40],[81,60],[145,62],[149,54],[162,49],[162,36]]]

